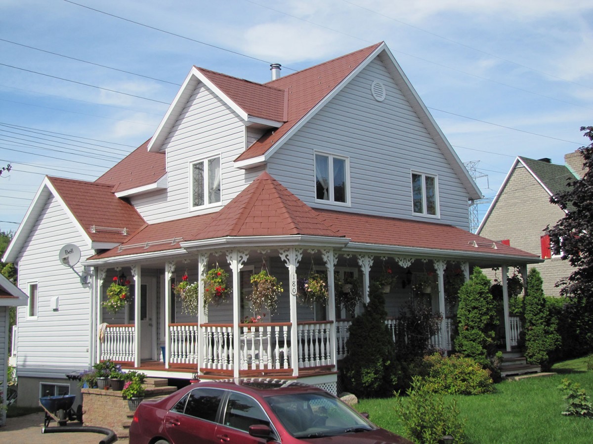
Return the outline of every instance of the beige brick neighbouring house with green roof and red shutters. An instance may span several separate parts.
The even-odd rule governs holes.
[[[505,239],[512,246],[539,255],[543,263],[530,267],[537,267],[548,296],[559,296],[556,282],[573,272],[567,260],[553,254],[550,237],[544,233],[547,226],[554,226],[565,215],[558,205],[550,204],[550,197],[568,191],[569,179],[584,174],[578,150],[566,155],[565,162],[555,165],[547,158],[517,157],[476,231],[480,236]]]

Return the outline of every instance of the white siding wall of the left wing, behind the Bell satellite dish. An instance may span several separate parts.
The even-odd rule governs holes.
[[[19,287],[37,282],[37,318],[28,318],[28,307],[18,308],[18,374],[63,377],[90,363],[91,291],[76,273],[59,262],[60,248],[74,243],[82,258],[93,255],[84,237],[59,202],[50,197],[25,244],[19,263]],[[81,274],[80,263],[74,266]],[[50,307],[59,297],[58,310]]]

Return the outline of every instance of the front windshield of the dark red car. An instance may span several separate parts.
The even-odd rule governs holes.
[[[275,395],[266,401],[294,437],[337,436],[375,429],[342,401],[321,392]]]

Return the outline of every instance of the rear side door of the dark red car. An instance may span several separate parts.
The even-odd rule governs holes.
[[[215,438],[216,418],[224,394],[218,388],[196,388],[181,398],[165,417],[171,444],[220,444]]]

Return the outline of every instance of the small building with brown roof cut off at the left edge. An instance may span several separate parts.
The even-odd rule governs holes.
[[[10,307],[27,305],[27,295],[0,274],[0,406],[6,405],[8,369],[8,332],[10,328]],[[0,408],[0,426],[6,423],[6,411]]]

